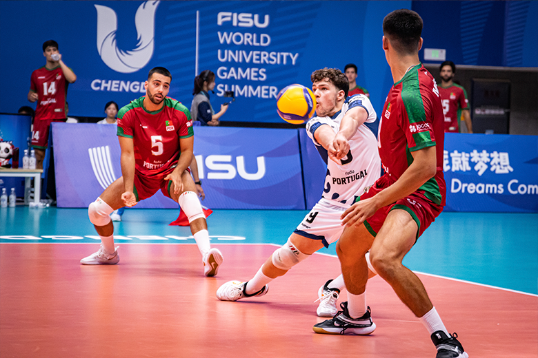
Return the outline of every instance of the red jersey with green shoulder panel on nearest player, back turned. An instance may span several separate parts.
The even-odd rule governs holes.
[[[444,206],[444,136],[443,107],[437,83],[420,63],[392,86],[383,107],[377,147],[390,181],[396,182],[411,165],[412,151],[435,145],[437,173],[418,191],[435,204]]]

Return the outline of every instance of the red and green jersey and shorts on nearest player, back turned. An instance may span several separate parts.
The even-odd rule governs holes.
[[[437,84],[422,64],[409,70],[388,93],[378,144],[385,174],[359,200],[371,198],[394,184],[413,161],[412,151],[435,146],[437,172],[417,191],[379,209],[365,222],[376,235],[392,209],[408,211],[417,222],[417,238],[443,211],[446,183],[443,175],[444,116]]]

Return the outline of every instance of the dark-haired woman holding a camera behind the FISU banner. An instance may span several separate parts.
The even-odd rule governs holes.
[[[210,70],[202,71],[195,77],[195,89],[192,91],[195,98],[190,105],[190,115],[193,121],[199,120],[200,125],[219,125],[219,118],[228,110],[228,103],[223,103],[221,110],[215,113],[209,101],[209,91],[215,93],[213,88],[215,88],[215,74]]]

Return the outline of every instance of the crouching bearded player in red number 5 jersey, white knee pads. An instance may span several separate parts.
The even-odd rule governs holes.
[[[179,203],[188,217],[206,276],[215,276],[222,254],[211,249],[209,233],[195,182],[188,167],[192,160],[194,137],[190,112],[178,101],[166,98],[172,75],[164,67],[155,67],[145,83],[146,96],[121,108],[117,134],[121,147],[121,178],[114,181],[88,207],[101,248],[81,260],[81,264],[117,264],[114,226],[110,213],[132,207],[150,198],[159,189]]]

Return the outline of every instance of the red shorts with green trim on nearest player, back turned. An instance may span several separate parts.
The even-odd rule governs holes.
[[[375,196],[375,194],[389,187],[391,184],[392,180],[390,180],[388,175],[385,174],[381,176],[381,178],[379,178],[374,185],[372,185],[368,192],[363,193],[363,195],[361,195],[357,201],[372,198],[372,196]],[[377,233],[379,233],[379,230],[381,229],[381,226],[383,226],[383,222],[385,222],[388,213],[390,213],[390,211],[393,209],[402,209],[407,211],[412,216],[413,220],[417,222],[419,227],[419,230],[417,231],[417,239],[420,235],[422,235],[422,233],[424,233],[426,229],[428,229],[430,224],[435,221],[435,218],[439,216],[441,211],[443,211],[443,207],[441,205],[435,204],[430,199],[426,198],[424,193],[421,193],[421,191],[415,191],[409,196],[397,200],[397,202],[393,204],[378,209],[374,215],[366,219],[364,226],[366,226],[366,229],[368,229],[368,231],[370,231],[374,237],[377,235]]]

